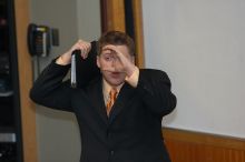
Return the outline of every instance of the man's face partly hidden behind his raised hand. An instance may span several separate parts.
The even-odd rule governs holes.
[[[130,55],[126,45],[115,45],[129,61],[134,63],[134,57]],[[114,50],[110,50],[105,45],[101,53],[97,57],[97,65],[99,67],[104,79],[111,85],[118,87],[124,83],[126,73],[124,71],[124,64],[117,57]]]

